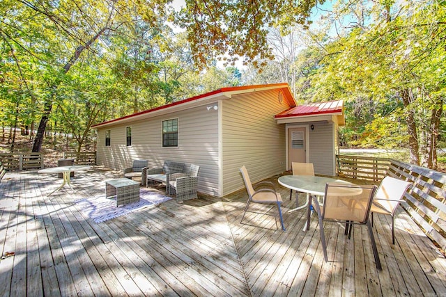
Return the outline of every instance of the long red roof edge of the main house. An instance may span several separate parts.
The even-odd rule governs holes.
[[[172,102],[170,104],[166,104],[163,106],[158,106],[155,107],[154,109],[148,109],[146,111],[140,111],[139,113],[133,113],[131,115],[125,115],[122,118],[116,118],[114,120],[109,120],[106,122],[101,122],[99,124],[95,124],[92,127],[99,127],[102,125],[107,125],[113,122],[119,122],[121,120],[124,119],[128,119],[128,118],[133,118],[136,117],[137,115],[144,115],[146,113],[153,113],[154,111],[159,111],[162,109],[168,109],[169,107],[172,106],[178,106],[180,104],[185,104],[187,102],[194,102],[194,101],[198,101],[199,99],[206,99],[206,97],[210,97],[213,95],[217,95],[217,94],[222,94],[224,95],[224,93],[231,93],[232,95],[237,95],[237,93],[244,93],[245,91],[249,91],[252,90],[252,92],[255,92],[256,90],[265,90],[268,88],[275,88],[275,89],[282,89],[282,94],[284,95],[284,99],[286,100],[286,102],[288,102],[289,106],[295,106],[295,100],[293,98],[293,95],[291,94],[291,90],[289,88],[288,83],[272,83],[272,84],[266,84],[266,85],[253,85],[253,86],[236,86],[236,87],[227,87],[227,88],[220,88],[218,90],[213,90],[212,92],[209,93],[205,93],[205,94],[201,94],[198,96],[194,96],[194,97],[190,97],[188,99],[184,99],[184,100],[180,100],[177,102]]]

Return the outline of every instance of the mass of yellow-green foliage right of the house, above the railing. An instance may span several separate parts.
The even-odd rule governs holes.
[[[351,145],[408,147],[422,162],[435,159],[446,98],[444,3],[339,1],[330,17],[353,26],[312,34],[314,45],[295,60],[296,97],[344,100],[341,138]]]

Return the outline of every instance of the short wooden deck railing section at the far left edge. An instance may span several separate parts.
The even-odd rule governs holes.
[[[7,171],[43,168],[43,153],[0,153],[0,160]]]

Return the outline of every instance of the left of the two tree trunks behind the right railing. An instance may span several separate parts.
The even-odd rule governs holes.
[[[412,92],[410,89],[402,90],[400,92],[404,107],[406,108],[406,122],[407,131],[409,135],[409,154],[410,163],[420,165],[420,146],[418,145],[417,125],[415,123],[415,111],[410,107],[410,102],[413,101]]]

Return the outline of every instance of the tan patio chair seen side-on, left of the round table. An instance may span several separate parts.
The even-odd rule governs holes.
[[[248,200],[246,202],[245,211],[243,212],[243,217],[240,220],[240,223],[243,222],[243,218],[245,218],[245,214],[247,212],[274,216],[272,214],[268,214],[268,211],[270,211],[270,209],[268,209],[268,211],[266,211],[265,213],[248,211],[248,207],[251,202],[261,203],[261,204],[276,204],[277,211],[279,212],[279,218],[280,218],[280,223],[282,225],[282,230],[285,231],[284,219],[282,218],[282,209],[280,208],[282,204],[282,197],[280,193],[275,191],[274,184],[272,184],[272,182],[259,182],[255,186],[252,186],[251,179],[249,179],[249,175],[245,166],[240,168],[240,172],[242,173],[243,181],[245,182],[246,191],[248,193]],[[276,220],[276,225],[277,225],[277,220]]]

